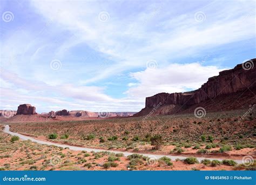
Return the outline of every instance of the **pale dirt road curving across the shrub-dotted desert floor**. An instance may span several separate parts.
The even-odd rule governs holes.
[[[70,145],[64,145],[64,144],[59,144],[59,143],[55,143],[55,142],[50,142],[50,141],[41,141],[41,140],[37,140],[35,138],[31,138],[29,136],[26,136],[26,135],[22,135],[22,134],[19,134],[19,133],[15,133],[15,132],[11,132],[10,131],[10,126],[9,125],[5,125],[5,128],[4,128],[4,132],[5,133],[8,133],[10,135],[17,135],[19,136],[20,139],[22,140],[31,140],[32,142],[36,142],[36,143],[39,143],[39,144],[42,144],[42,145],[54,145],[54,146],[58,146],[58,147],[63,147],[63,148],[66,148],[66,147],[69,147],[69,149],[71,150],[77,150],[77,151],[82,151],[82,150],[85,150],[87,152],[112,152],[112,153],[123,153],[124,156],[128,156],[128,155],[132,155],[132,154],[136,154],[136,153],[132,153],[132,152],[120,152],[120,151],[114,151],[114,150],[104,150],[104,149],[96,149],[96,148],[86,148],[86,147],[76,147],[76,146],[70,146]],[[166,157],[169,157],[171,160],[175,161],[176,159],[186,159],[187,156],[173,156],[173,155],[153,155],[153,154],[143,154],[144,156],[148,156],[152,159],[159,159],[163,156],[166,156]],[[207,157],[196,157],[198,159],[198,161],[201,161],[203,159],[209,159],[209,160],[223,160],[223,159],[220,159],[220,158],[207,158]],[[234,160],[235,162],[237,162],[238,164],[241,164],[242,163],[242,160]]]

